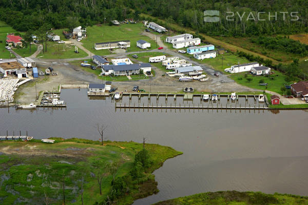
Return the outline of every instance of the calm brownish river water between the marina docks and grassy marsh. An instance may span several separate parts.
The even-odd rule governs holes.
[[[28,130],[35,138],[100,138],[170,146],[184,154],[154,172],[160,192],[134,204],[151,204],[200,192],[238,190],[308,195],[308,139],[305,111],[115,110],[110,98],[88,99],[86,90],[62,90],[67,109],[0,109],[0,134]],[[128,103],[124,97],[122,103]],[[147,104],[147,97],[140,103]],[[131,103],[138,104],[138,98]],[[156,105],[156,97],[150,104]],[[174,103],[168,97],[168,104]],[[177,104],[201,104],[200,98]],[[222,106],[227,101],[221,100]],[[249,99],[248,104],[255,104]],[[165,104],[165,98],[159,99]],[[243,106],[245,99],[239,99]],[[215,106],[215,105],[214,105]],[[229,104],[228,104],[229,106]],[[258,106],[258,104],[257,104]],[[22,133],[23,134],[23,133]]]

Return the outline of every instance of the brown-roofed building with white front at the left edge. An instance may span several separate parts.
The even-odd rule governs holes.
[[[26,68],[17,61],[0,63],[0,72],[3,73],[4,77],[8,75],[16,75],[18,78],[28,77]]]

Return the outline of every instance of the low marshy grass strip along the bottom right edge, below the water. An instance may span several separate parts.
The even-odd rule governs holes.
[[[156,203],[156,205],[300,205],[308,204],[308,197],[291,194],[264,194],[261,192],[207,192],[179,197]]]

